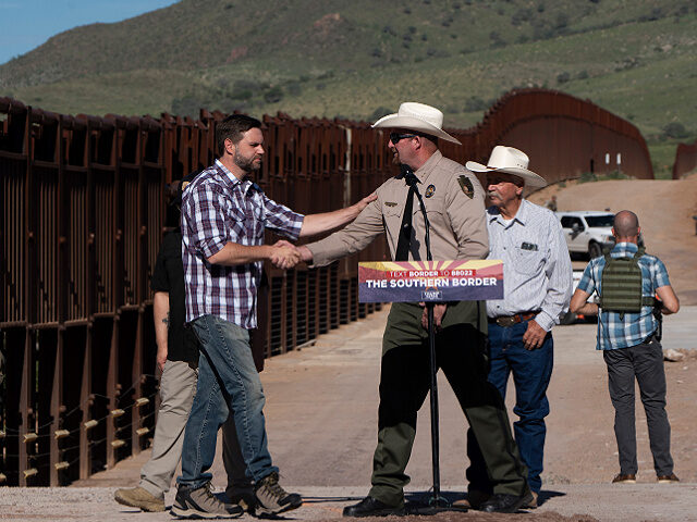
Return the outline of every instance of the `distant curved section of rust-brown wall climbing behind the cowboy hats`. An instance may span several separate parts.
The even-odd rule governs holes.
[[[450,144],[447,156],[487,163],[494,145],[524,150],[530,169],[549,183],[621,171],[652,179],[646,141],[626,120],[588,100],[547,89],[504,95],[477,126],[454,132],[464,147]]]

